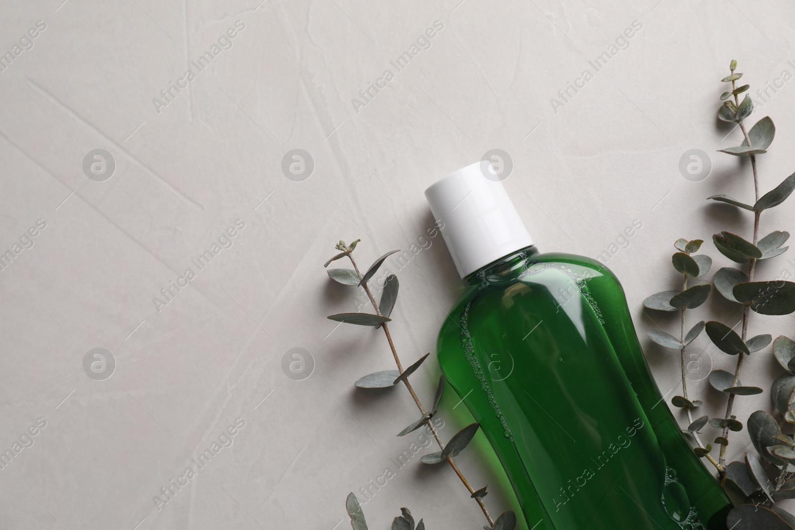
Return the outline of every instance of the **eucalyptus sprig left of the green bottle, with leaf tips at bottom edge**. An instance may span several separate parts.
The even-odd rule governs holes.
[[[421,462],[426,464],[436,464],[443,461],[448,462],[449,466],[452,467],[452,470],[456,473],[456,476],[463,483],[463,486],[467,488],[467,491],[470,493],[470,497],[475,499],[475,502],[478,503],[479,508],[483,512],[483,516],[486,517],[489,525],[485,528],[493,528],[494,530],[513,530],[516,521],[516,516],[514,513],[506,511],[501,513],[496,520],[492,519],[488,509],[486,508],[486,505],[483,503],[483,497],[487,495],[486,488],[483,487],[481,489],[475,490],[467,481],[467,478],[463,476],[460,468],[453,460],[453,457],[458,455],[460,451],[463,451],[463,449],[467,447],[467,444],[475,436],[475,432],[478,430],[479,424],[471,424],[467,427],[464,427],[461,431],[456,433],[456,435],[453,435],[448,443],[445,444],[442,442],[439,432],[436,431],[436,427],[431,421],[432,416],[436,414],[436,407],[439,404],[442,391],[444,389],[444,377],[442,377],[439,381],[439,385],[436,389],[436,397],[430,411],[423,406],[420,398],[417,397],[417,393],[414,391],[411,383],[409,382],[409,375],[414,373],[414,371],[421,365],[423,361],[425,361],[425,358],[427,358],[429,354],[426,354],[420,360],[414,362],[413,365],[407,368],[403,367],[401,359],[397,354],[397,349],[395,348],[392,335],[390,335],[390,328],[388,325],[388,322],[390,322],[389,316],[392,308],[394,307],[394,301],[397,298],[397,277],[394,275],[386,277],[386,283],[384,284],[384,290],[382,292],[380,304],[375,301],[373,292],[370,290],[370,286],[368,285],[370,278],[374,276],[374,274],[378,271],[378,268],[382,265],[383,261],[392,252],[386,253],[382,257],[379,257],[373,263],[373,265],[370,265],[370,268],[367,269],[365,273],[362,273],[362,271],[359,269],[359,265],[356,263],[353,257],[353,251],[355,250],[356,244],[358,242],[359,240],[356,240],[350,245],[346,245],[344,242],[339,242],[336,248],[342,252],[327,261],[326,266],[328,266],[328,264],[332,261],[342,257],[347,257],[351,261],[353,269],[329,269],[328,276],[340,284],[363,288],[375,312],[374,314],[360,312],[340,313],[339,315],[331,315],[328,318],[342,323],[354,323],[364,326],[381,327],[384,331],[384,335],[386,336],[386,341],[389,342],[390,350],[392,352],[392,357],[394,358],[395,366],[397,366],[397,370],[386,370],[382,372],[370,373],[369,375],[360,378],[359,381],[356,381],[356,386],[363,389],[388,388],[390,386],[397,385],[398,382],[402,382],[403,385],[405,385],[405,388],[409,391],[409,394],[411,394],[414,403],[417,404],[417,409],[420,411],[421,418],[420,420],[415,421],[413,424],[410,424],[408,427],[405,427],[405,429],[403,429],[399,435],[408,434],[409,432],[414,431],[423,425],[428,427],[429,432],[432,434],[433,438],[436,439],[436,443],[438,444],[441,451],[423,456],[421,458]],[[397,250],[393,252],[397,252]],[[359,501],[356,500],[355,495],[352,493],[348,496],[347,505],[349,508],[348,513],[351,515],[351,524],[353,524],[355,530],[366,530],[364,515],[361,513]],[[408,510],[406,510],[406,512],[408,512]],[[404,513],[403,517],[406,519],[405,524],[408,524],[410,513],[408,516],[406,516]],[[401,526],[400,528],[404,527]],[[413,529],[413,522],[408,524],[408,528]],[[420,525],[417,525],[417,530],[421,530]]]

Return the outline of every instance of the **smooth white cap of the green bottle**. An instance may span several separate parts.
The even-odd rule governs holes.
[[[462,278],[533,245],[489,161],[450,173],[425,190],[425,198]]]

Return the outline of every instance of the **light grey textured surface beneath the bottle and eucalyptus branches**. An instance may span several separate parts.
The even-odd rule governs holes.
[[[434,350],[461,284],[441,238],[423,237],[423,191],[489,149],[510,154],[506,188],[541,250],[596,257],[642,222],[607,265],[662,392],[678,393],[678,358],[650,345],[656,324],[638,304],[677,287],[677,238],[707,240],[716,269],[728,261],[712,233],[750,237],[748,215],[704,201],[752,202],[749,164],[715,153],[741,140],[715,120],[732,58],[758,104],[757,89],[783,83],[753,117],[778,125],[759,161],[762,191],[793,171],[788,2],[61,2],[0,7],[0,52],[46,24],[0,72],[0,250],[46,222],[0,271],[0,448],[46,421],[0,470],[2,528],[347,528],[347,493],[417,439],[395,436],[417,412],[405,389],[354,392],[391,358],[380,332],[325,319],[356,305],[323,263],[339,239],[363,240],[363,265],[414,245],[407,264],[386,262],[401,280],[391,328],[407,362]],[[245,28],[231,48],[158,109],[153,99],[235,21]],[[444,29],[397,72],[390,61],[435,21]],[[595,72],[588,61],[633,21],[642,29]],[[386,69],[386,88],[351,103]],[[593,79],[553,105],[585,69]],[[784,71],[788,82],[776,81]],[[84,174],[92,149],[114,158],[109,180]],[[291,149],[310,153],[308,180],[282,173]],[[688,149],[710,153],[705,180],[681,175]],[[238,219],[234,245],[197,272],[191,260]],[[762,233],[793,221],[791,204],[778,207]],[[795,273],[787,259],[763,263],[760,277]],[[158,311],[153,298],[188,267],[196,278]],[[739,318],[717,299],[694,312]],[[762,332],[793,335],[793,317],[754,315],[750,333]],[[706,336],[696,346],[714,367],[733,366]],[[115,358],[104,381],[83,371],[95,347]],[[281,369],[294,347],[314,359],[303,381]],[[432,357],[413,377],[424,400],[438,373]],[[741,419],[770,409],[778,373],[770,349],[747,362],[743,383],[766,393],[737,400]],[[725,406],[704,381],[691,393],[708,413]],[[445,438],[468,421],[456,402],[445,397]],[[158,509],[153,496],[238,418],[231,447]],[[732,437],[740,455],[747,439]],[[515,509],[482,435],[474,447],[459,459],[465,474],[490,485],[493,513]],[[479,528],[452,471],[421,470],[418,458],[365,505],[370,528],[388,528],[400,506],[428,528]]]

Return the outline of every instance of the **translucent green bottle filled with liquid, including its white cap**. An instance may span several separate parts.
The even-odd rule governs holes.
[[[467,284],[439,362],[533,530],[725,530],[723,489],[661,397],[619,280],[539,253],[491,164],[425,195]]]

